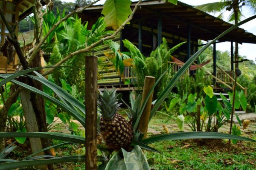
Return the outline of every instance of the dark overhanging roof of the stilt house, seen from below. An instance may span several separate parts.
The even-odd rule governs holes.
[[[133,2],[131,6],[135,6]],[[78,7],[79,9],[81,7]],[[86,8],[83,13],[88,15],[84,19],[90,21],[92,16],[100,16],[103,5]],[[219,34],[233,26],[217,17],[200,11],[193,6],[178,2],[177,6],[166,3],[165,0],[145,0],[140,4],[134,14],[131,23],[143,20],[143,25],[157,28],[158,17],[162,17],[163,31],[172,34],[187,36],[187,30],[191,28],[191,38],[196,40],[213,40]],[[256,43],[256,36],[242,28],[236,28],[226,34],[219,41],[233,41],[239,43]]]

